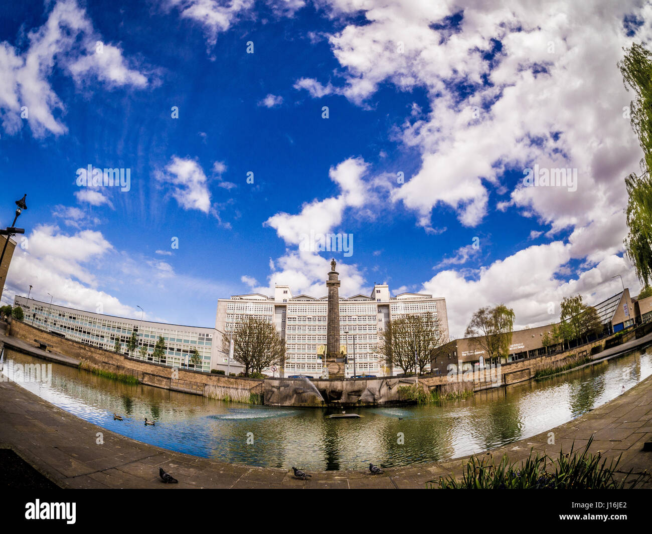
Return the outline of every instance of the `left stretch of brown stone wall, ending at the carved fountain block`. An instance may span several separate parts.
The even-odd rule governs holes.
[[[203,394],[211,398],[223,398],[220,395],[228,394],[229,398],[235,400],[236,396],[244,398],[244,391],[248,396],[250,390],[256,387],[262,389],[263,381],[259,379],[235,378],[186,369],[176,370],[173,375],[175,370],[170,366],[132,359],[123,354],[61,338],[16,319],[10,323],[8,334],[30,344],[35,344],[35,339],[46,343],[48,350],[82,361],[83,368],[129,374],[136,376],[141,383],[173,391]]]

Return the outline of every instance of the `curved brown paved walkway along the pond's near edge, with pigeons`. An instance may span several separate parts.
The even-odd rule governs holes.
[[[554,432],[555,445],[548,445]],[[522,460],[531,448],[557,456],[574,440],[584,447],[593,436],[591,451],[603,457],[623,454],[619,471],[652,472],[652,452],[643,452],[652,440],[652,376],[600,408],[533,438],[494,449],[494,458],[507,453]],[[98,445],[98,433],[103,441]],[[0,448],[16,451],[23,460],[59,486],[67,488],[424,488],[426,482],[461,472],[463,458],[368,471],[312,473],[299,481],[286,469],[249,467],[198,458],[125,438],[59,409],[12,382],[0,382]],[[163,467],[179,484],[158,479]],[[300,467],[300,466],[299,466]],[[645,486],[652,487],[648,481]]]

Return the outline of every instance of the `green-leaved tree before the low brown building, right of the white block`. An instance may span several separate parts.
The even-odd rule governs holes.
[[[471,316],[464,337],[473,338],[473,343],[484,349],[489,364],[499,362],[509,354],[514,318],[514,310],[505,304],[485,306]]]

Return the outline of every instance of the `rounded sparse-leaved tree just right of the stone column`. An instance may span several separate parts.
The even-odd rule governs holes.
[[[432,366],[443,342],[432,314],[412,314],[387,323],[378,351],[387,366],[408,374]]]

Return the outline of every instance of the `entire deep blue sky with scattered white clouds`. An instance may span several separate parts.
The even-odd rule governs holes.
[[[484,304],[524,326],[615,274],[636,294],[623,178],[641,153],[615,63],[649,40],[649,5],[430,4],[3,6],[6,224],[28,205],[3,301],[31,284],[207,326],[231,294],[322,296],[331,256],[344,295],[445,297],[454,336]],[[129,190],[78,186],[89,164],[129,169]],[[535,164],[575,169],[576,189],[524,187]],[[300,250],[311,230],[353,254]]]

